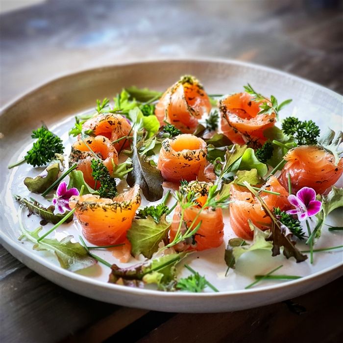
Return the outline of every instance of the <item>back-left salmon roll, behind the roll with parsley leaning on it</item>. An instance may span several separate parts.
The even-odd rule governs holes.
[[[82,128],[85,130],[93,130],[96,136],[104,136],[111,142],[114,142],[124,136],[132,136],[131,125],[120,114],[99,114],[83,123]],[[125,139],[113,144],[117,151],[120,151],[129,145],[130,142]]]

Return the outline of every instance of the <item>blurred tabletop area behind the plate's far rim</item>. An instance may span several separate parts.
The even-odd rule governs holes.
[[[1,105],[60,75],[158,58],[249,61],[343,93],[339,0],[1,0],[0,4]]]

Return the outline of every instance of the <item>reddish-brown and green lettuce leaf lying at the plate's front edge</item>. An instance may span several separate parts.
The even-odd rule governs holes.
[[[176,283],[175,265],[186,255],[185,252],[165,255],[128,268],[114,264],[108,282],[131,287],[156,283],[159,289],[172,289]]]

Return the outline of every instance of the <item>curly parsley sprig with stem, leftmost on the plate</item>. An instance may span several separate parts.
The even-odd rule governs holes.
[[[33,147],[26,152],[24,159],[9,165],[9,169],[19,166],[24,162],[33,167],[44,166],[55,157],[56,153],[63,154],[64,147],[62,140],[49,131],[46,126],[42,125],[42,127],[37,130],[33,130],[31,137],[37,139],[37,141],[33,143]]]

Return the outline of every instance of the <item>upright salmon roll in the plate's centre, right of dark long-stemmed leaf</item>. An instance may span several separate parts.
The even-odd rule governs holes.
[[[207,165],[207,145],[191,134],[167,138],[162,142],[157,168],[166,181],[196,180]]]

